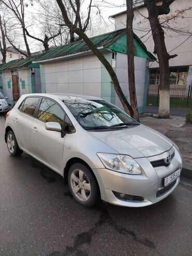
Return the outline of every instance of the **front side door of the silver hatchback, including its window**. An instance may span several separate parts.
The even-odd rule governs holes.
[[[61,138],[61,132],[46,130],[45,124],[58,122],[62,127],[64,117],[65,112],[56,101],[42,98],[31,131],[33,155],[59,172],[62,167],[65,137]]]

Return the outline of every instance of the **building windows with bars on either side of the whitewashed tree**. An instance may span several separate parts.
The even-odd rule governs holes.
[[[186,85],[188,68],[170,68],[170,85]],[[159,85],[159,70],[151,69],[149,85]]]

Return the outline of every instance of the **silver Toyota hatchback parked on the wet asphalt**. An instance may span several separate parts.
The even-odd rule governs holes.
[[[98,199],[142,207],[171,194],[182,158],[161,133],[99,98],[47,93],[23,95],[7,113],[5,141],[61,174],[84,206]]]

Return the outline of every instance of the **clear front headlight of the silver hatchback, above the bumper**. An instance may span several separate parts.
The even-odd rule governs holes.
[[[127,155],[97,153],[107,169],[126,174],[141,174],[141,168],[136,161]]]

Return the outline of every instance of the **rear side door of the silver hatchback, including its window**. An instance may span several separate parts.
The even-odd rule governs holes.
[[[40,97],[27,97],[23,100],[13,118],[13,132],[19,145],[31,153],[31,128]]]

